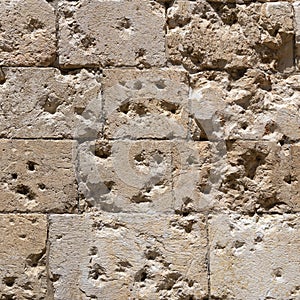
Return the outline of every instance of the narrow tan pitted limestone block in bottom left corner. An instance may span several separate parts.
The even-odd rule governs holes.
[[[0,298],[45,299],[46,216],[0,214]]]

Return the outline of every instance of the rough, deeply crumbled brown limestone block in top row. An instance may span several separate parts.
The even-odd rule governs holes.
[[[191,72],[293,68],[291,3],[179,1],[167,15],[168,59]]]

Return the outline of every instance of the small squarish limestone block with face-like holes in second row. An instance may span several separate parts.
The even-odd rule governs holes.
[[[104,134],[108,139],[186,139],[188,95],[184,71],[105,70]]]

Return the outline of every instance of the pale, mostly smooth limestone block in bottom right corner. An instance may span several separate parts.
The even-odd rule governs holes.
[[[212,216],[212,298],[299,299],[299,234],[299,215]]]

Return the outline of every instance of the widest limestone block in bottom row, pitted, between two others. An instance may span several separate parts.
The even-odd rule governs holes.
[[[54,299],[204,299],[203,216],[52,215]]]

